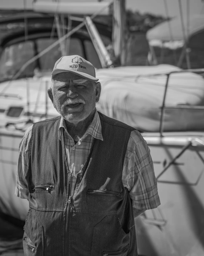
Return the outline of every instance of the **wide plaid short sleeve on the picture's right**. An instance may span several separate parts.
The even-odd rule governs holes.
[[[145,211],[160,205],[150,150],[137,130],[128,141],[122,180],[134,208]]]

